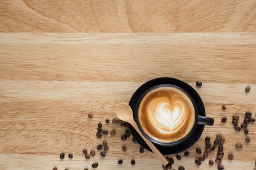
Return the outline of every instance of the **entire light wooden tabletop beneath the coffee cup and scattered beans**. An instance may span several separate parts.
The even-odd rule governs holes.
[[[0,9],[0,169],[92,169],[93,162],[97,169],[161,169],[132,137],[120,140],[124,127],[104,123],[115,116],[116,104],[128,103],[143,82],[161,76],[193,87],[202,81],[195,89],[215,119],[189,157],[172,156],[173,169],[210,169],[216,150],[198,167],[195,148],[204,149],[205,136],[213,141],[219,132],[226,139],[225,169],[255,169],[256,123],[249,125],[249,144],[231,124],[234,113],[256,112],[255,1],[13,0],[2,1]],[[225,124],[221,117],[228,118]],[[98,122],[116,135],[97,139]],[[103,139],[106,157],[97,151],[85,160],[83,149]]]

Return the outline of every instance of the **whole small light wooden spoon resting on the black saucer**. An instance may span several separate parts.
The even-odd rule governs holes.
[[[138,128],[136,122],[133,119],[132,109],[128,104],[120,103],[115,108],[116,116],[125,122],[131,124],[134,129],[140,134],[141,138],[147,143],[150,149],[155,153],[158,159],[161,160],[161,163],[166,166],[168,164],[168,160],[166,160],[161,152],[157,150],[156,146],[141,133],[140,129]]]

